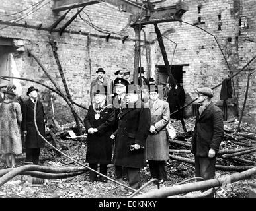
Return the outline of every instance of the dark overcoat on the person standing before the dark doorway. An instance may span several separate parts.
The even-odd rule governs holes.
[[[184,106],[185,103],[185,91],[182,87],[176,86],[175,91],[171,88],[168,91],[167,102],[169,103],[170,113],[176,111],[180,107]],[[179,110],[171,115],[173,119],[182,119],[183,110]]]

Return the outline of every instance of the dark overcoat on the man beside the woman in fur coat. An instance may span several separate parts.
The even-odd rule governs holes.
[[[22,111],[22,131],[27,131],[26,135],[26,148],[41,148],[44,147],[44,140],[36,132],[36,127],[34,125],[34,103],[29,98],[21,105]],[[44,113],[44,107],[42,102],[38,100],[36,105],[36,124],[39,132],[42,136],[45,136],[45,122],[46,114]]]

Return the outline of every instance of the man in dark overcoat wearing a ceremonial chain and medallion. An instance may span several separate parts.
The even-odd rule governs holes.
[[[115,121],[114,107],[112,104],[107,104],[107,86],[98,85],[95,91],[95,103],[89,106],[84,119],[88,133],[86,162],[95,171],[100,164],[100,173],[107,175],[107,164],[111,163],[113,149],[113,140],[110,135],[113,133]],[[90,182],[93,183],[96,180],[96,173],[90,171]],[[107,182],[102,176],[99,180]]]

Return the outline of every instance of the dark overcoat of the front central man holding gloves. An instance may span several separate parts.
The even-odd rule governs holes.
[[[128,104],[120,115],[118,129],[114,132],[116,146],[113,163],[117,166],[142,168],[146,166],[146,138],[150,128],[150,110],[138,100]],[[138,150],[130,150],[130,145],[139,144]]]

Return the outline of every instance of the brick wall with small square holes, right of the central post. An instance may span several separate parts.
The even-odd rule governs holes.
[[[175,3],[177,1],[167,0],[157,7],[167,7],[167,5]],[[239,71],[255,55],[256,2],[252,0],[185,0],[183,3],[189,6],[189,11],[182,18],[184,22],[167,22],[165,24],[158,24],[158,26],[163,34],[169,63],[173,59],[173,65],[189,64],[189,66],[183,67],[185,71],[183,73],[183,88],[189,96],[187,102],[190,102],[191,98],[196,97],[194,92],[196,88],[200,86],[214,87],[220,84],[230,73]],[[244,26],[246,24],[249,24],[249,26]],[[195,26],[202,28],[202,30]],[[155,65],[164,65],[164,62],[153,27],[148,28],[147,34],[148,39],[152,42],[151,67],[152,71],[155,72],[155,76],[157,76],[157,68],[154,70],[154,67]],[[220,44],[228,65],[214,36]],[[173,57],[175,44],[177,45]],[[255,71],[255,63],[255,61],[251,63],[247,71],[234,78],[235,94],[239,102],[239,109],[243,107],[247,74],[249,70]],[[216,104],[222,105],[222,101],[220,101],[220,88],[221,86],[214,90],[213,101]],[[255,88],[255,75],[253,75],[245,109],[245,116],[251,117],[252,121],[255,121],[256,116]],[[234,98],[228,99],[230,106],[233,103]],[[187,107],[186,115],[191,115],[191,107]],[[230,108],[233,109],[234,107]],[[231,113],[234,116],[234,112]]]

